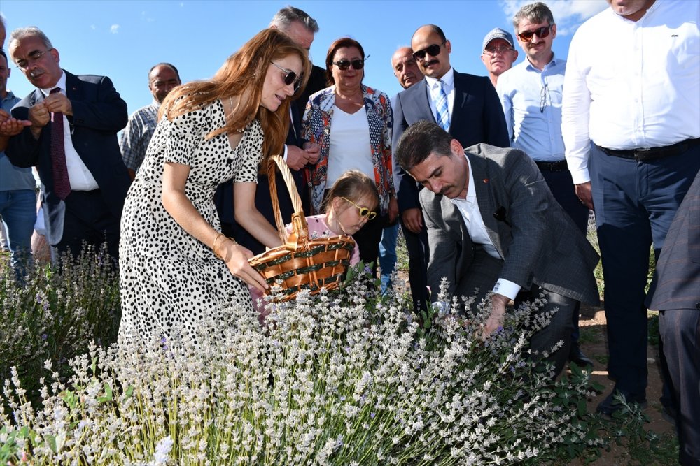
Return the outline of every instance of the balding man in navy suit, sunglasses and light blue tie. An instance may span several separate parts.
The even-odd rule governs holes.
[[[440,27],[420,27],[411,39],[414,58],[426,79],[398,94],[394,103],[393,147],[408,126],[426,120],[437,123],[462,147],[486,143],[510,147],[503,108],[489,78],[457,73],[449,64],[451,44]],[[446,108],[440,116],[442,93]],[[414,303],[425,309],[428,235],[415,180],[404,174],[398,207],[414,274],[409,277]],[[417,272],[420,270],[420,273]],[[433,290],[437,293],[437,290]]]

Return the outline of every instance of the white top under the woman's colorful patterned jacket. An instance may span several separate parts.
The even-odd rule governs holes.
[[[374,180],[370,125],[364,106],[352,114],[337,105],[333,107],[326,187],[330,188],[347,170],[360,170]]]

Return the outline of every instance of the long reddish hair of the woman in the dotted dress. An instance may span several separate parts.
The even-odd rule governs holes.
[[[217,99],[224,101],[238,96],[230,120],[225,126],[213,129],[207,138],[214,138],[221,133],[234,133],[257,118],[265,133],[263,157],[279,154],[289,129],[291,99],[285,99],[276,112],[261,107],[260,100],[270,62],[290,54],[296,54],[302,61],[302,86],[297,91],[300,94],[306,87],[311,72],[307,50],[295,44],[279,29],[263,29],[228,57],[211,80],[193,81],[173,89],[163,101],[160,117],[165,115],[172,121],[180,115],[204,108]]]

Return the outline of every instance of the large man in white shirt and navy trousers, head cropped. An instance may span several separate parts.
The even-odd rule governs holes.
[[[650,245],[658,257],[700,169],[700,2],[608,0],[571,41],[563,85],[566,160],[596,212],[612,393],[598,412],[644,405]],[[612,47],[612,49],[611,49]]]

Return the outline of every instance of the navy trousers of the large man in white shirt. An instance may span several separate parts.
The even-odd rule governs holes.
[[[608,372],[616,388],[644,396],[647,386],[645,286],[652,242],[658,257],[668,227],[700,169],[700,146],[638,162],[591,145],[589,170],[605,280]]]

